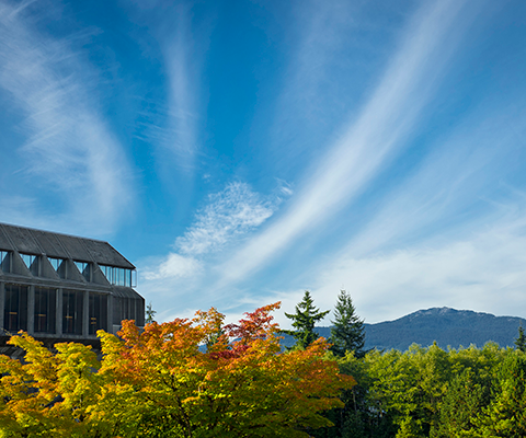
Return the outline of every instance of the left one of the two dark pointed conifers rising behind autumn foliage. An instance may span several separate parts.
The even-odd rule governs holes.
[[[296,345],[300,348],[307,348],[316,339],[319,334],[315,332],[315,324],[321,321],[330,310],[320,312],[320,309],[313,306],[313,299],[308,290],[305,291],[304,299],[296,306],[296,313],[286,313],[289,320],[293,320],[293,327],[296,330],[284,330],[286,333],[296,338]]]

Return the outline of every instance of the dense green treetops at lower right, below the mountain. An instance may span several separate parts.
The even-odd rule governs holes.
[[[444,350],[413,345],[340,359],[357,384],[344,408],[328,414],[338,427],[319,438],[526,437],[526,354],[488,343]]]

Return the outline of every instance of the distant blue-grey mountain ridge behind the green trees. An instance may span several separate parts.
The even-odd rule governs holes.
[[[521,322],[526,328],[526,320],[516,316],[449,308],[419,310],[395,321],[365,324],[365,347],[403,351],[413,343],[426,347],[434,341],[442,348],[469,347],[471,344],[482,347],[488,341],[496,342],[501,347],[513,346]],[[331,334],[330,327],[317,327],[317,331],[323,337]],[[294,338],[285,336],[283,345],[294,345]]]

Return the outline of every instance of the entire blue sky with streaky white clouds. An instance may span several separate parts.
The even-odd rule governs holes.
[[[159,321],[526,316],[524,0],[0,0],[0,221]]]

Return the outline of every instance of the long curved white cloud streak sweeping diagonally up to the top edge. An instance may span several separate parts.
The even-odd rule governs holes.
[[[279,250],[348,206],[403,148],[421,111],[466,28],[469,1],[425,4],[408,31],[369,101],[309,172],[289,208],[222,266],[219,287],[264,266]]]

